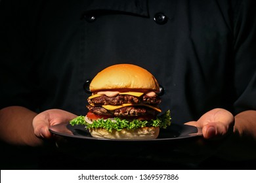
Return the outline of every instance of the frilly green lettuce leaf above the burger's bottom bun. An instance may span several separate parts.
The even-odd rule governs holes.
[[[171,125],[171,112],[167,110],[165,113],[157,116],[155,120],[121,120],[120,118],[114,118],[114,122],[110,119],[98,119],[94,120],[93,124],[89,124],[85,121],[85,116],[77,116],[70,121],[71,125],[85,125],[85,128],[99,128],[102,127],[110,132],[113,129],[120,131],[121,129],[137,129],[139,127],[160,127],[166,128],[168,125]]]

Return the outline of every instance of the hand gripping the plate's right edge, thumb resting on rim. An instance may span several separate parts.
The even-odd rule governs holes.
[[[214,108],[203,114],[198,121],[187,122],[186,125],[202,128],[205,139],[219,139],[233,130],[234,116],[228,110]]]

